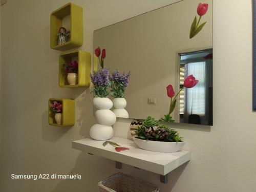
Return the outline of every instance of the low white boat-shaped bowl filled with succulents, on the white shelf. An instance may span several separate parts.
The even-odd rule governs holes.
[[[159,124],[152,117],[147,117],[136,130],[134,142],[143,150],[153,152],[177,152],[185,142],[174,129]]]

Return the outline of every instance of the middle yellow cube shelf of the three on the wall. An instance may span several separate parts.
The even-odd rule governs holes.
[[[70,85],[67,80],[68,73],[63,68],[64,63],[77,60],[77,84]],[[91,54],[89,52],[74,50],[62,53],[59,56],[59,87],[61,88],[77,88],[77,87],[90,87],[91,79]]]

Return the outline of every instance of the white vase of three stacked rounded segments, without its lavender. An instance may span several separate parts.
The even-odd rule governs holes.
[[[95,97],[93,99],[97,124],[90,129],[90,136],[95,140],[109,140],[114,135],[112,125],[116,123],[116,115],[110,110],[113,102],[109,98]]]

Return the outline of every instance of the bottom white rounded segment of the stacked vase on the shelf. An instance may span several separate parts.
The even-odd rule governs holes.
[[[112,126],[94,124],[90,129],[90,136],[95,140],[109,140],[113,135],[114,131]]]

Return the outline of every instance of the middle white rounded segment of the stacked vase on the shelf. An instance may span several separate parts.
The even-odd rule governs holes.
[[[116,115],[110,110],[97,110],[95,117],[102,125],[111,126],[116,123]]]

